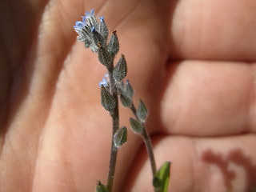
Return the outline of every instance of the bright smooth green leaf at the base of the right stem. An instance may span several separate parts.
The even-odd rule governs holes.
[[[162,184],[160,187],[156,187],[156,189],[158,189],[159,192],[167,192],[168,186],[169,186],[169,181],[170,181],[170,162],[165,162],[160,167],[160,169],[158,170],[158,173],[157,173],[157,178],[160,179]],[[153,185],[154,185],[154,179],[153,179]]]

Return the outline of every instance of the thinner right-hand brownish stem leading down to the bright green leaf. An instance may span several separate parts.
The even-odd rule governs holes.
[[[137,110],[134,106],[134,103],[132,103],[132,105],[130,106],[130,110],[133,111],[134,116],[140,122],[140,120],[137,116]],[[152,174],[153,174],[153,177],[154,177],[157,174],[157,168],[156,168],[156,163],[155,163],[155,160],[154,160],[153,148],[152,148],[152,144],[150,142],[149,134],[147,133],[146,128],[145,128],[143,123],[142,123],[142,126],[143,126],[143,131],[142,131],[141,136],[143,138],[143,141],[145,142],[146,150],[147,150],[147,153],[149,154],[149,157],[150,157],[150,166],[151,166]]]

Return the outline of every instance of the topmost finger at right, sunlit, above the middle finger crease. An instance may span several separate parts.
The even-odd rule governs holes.
[[[255,6],[254,0],[173,2],[170,57],[255,60]]]

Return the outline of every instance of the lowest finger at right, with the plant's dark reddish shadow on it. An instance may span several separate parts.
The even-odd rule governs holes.
[[[252,191],[256,180],[256,136],[224,138],[156,137],[158,167],[172,162],[170,189],[175,192]],[[150,163],[144,148],[138,153],[126,191],[152,190]]]

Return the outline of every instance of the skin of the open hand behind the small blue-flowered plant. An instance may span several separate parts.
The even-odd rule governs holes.
[[[157,165],[172,162],[169,191],[256,190],[254,0],[0,3],[1,191],[106,183],[106,70],[72,29],[91,8],[118,31],[134,102],[150,110]],[[130,111],[120,113],[129,127]],[[114,191],[152,191],[142,139],[128,134]]]

